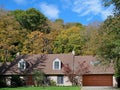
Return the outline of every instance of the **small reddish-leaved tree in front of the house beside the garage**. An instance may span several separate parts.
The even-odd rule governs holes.
[[[89,73],[89,67],[86,64],[86,61],[78,62],[78,66],[75,70],[73,70],[69,64],[63,64],[63,71],[65,75],[68,76],[69,81],[72,82],[72,85],[82,86],[82,75]]]

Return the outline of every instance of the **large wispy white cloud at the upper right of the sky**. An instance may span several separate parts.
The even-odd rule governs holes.
[[[81,17],[87,15],[100,16],[103,20],[112,15],[113,7],[105,8],[100,0],[75,0],[72,10]]]

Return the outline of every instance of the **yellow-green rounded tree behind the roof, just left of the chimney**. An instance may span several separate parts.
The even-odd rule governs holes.
[[[70,53],[74,49],[76,54],[82,54],[84,40],[81,38],[81,28],[71,27],[62,30],[54,41],[54,53]]]

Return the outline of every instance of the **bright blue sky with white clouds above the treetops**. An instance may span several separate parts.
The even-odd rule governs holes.
[[[102,0],[0,0],[7,10],[36,8],[48,19],[63,19],[64,23],[79,22],[88,25],[104,21],[112,15],[113,6],[104,7]]]

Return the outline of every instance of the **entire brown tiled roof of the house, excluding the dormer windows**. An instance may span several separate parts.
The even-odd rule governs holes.
[[[7,63],[7,70],[3,73],[4,75],[10,74],[31,74],[34,70],[43,70],[47,75],[56,75],[64,74],[63,69],[53,70],[53,61],[58,58],[63,64],[69,64],[73,68],[73,58],[74,58],[74,69],[77,67],[78,62],[86,61],[89,65],[88,74],[113,74],[113,67],[108,67],[107,69],[104,66],[98,65],[95,66],[96,58],[93,56],[73,56],[72,54],[37,54],[37,55],[23,55],[14,60],[14,63]],[[26,69],[26,72],[21,73],[18,69],[18,62],[20,59],[24,59],[29,63],[29,68]]]

